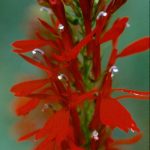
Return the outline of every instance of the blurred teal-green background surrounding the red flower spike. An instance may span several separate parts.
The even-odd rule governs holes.
[[[11,104],[14,99],[10,87],[22,76],[36,75],[37,70],[11,52],[10,44],[27,37],[27,20],[31,16],[34,0],[0,0],[0,150],[30,150],[30,142],[18,143],[12,135],[16,118]],[[120,48],[149,34],[149,0],[130,0],[114,17],[129,16],[127,28],[120,40]],[[115,87],[149,90],[148,52],[118,61],[119,73],[115,77]],[[143,139],[127,150],[149,149],[149,102],[126,100],[123,102],[144,132]],[[131,135],[131,133],[130,133]],[[122,137],[122,132],[115,132]]]

